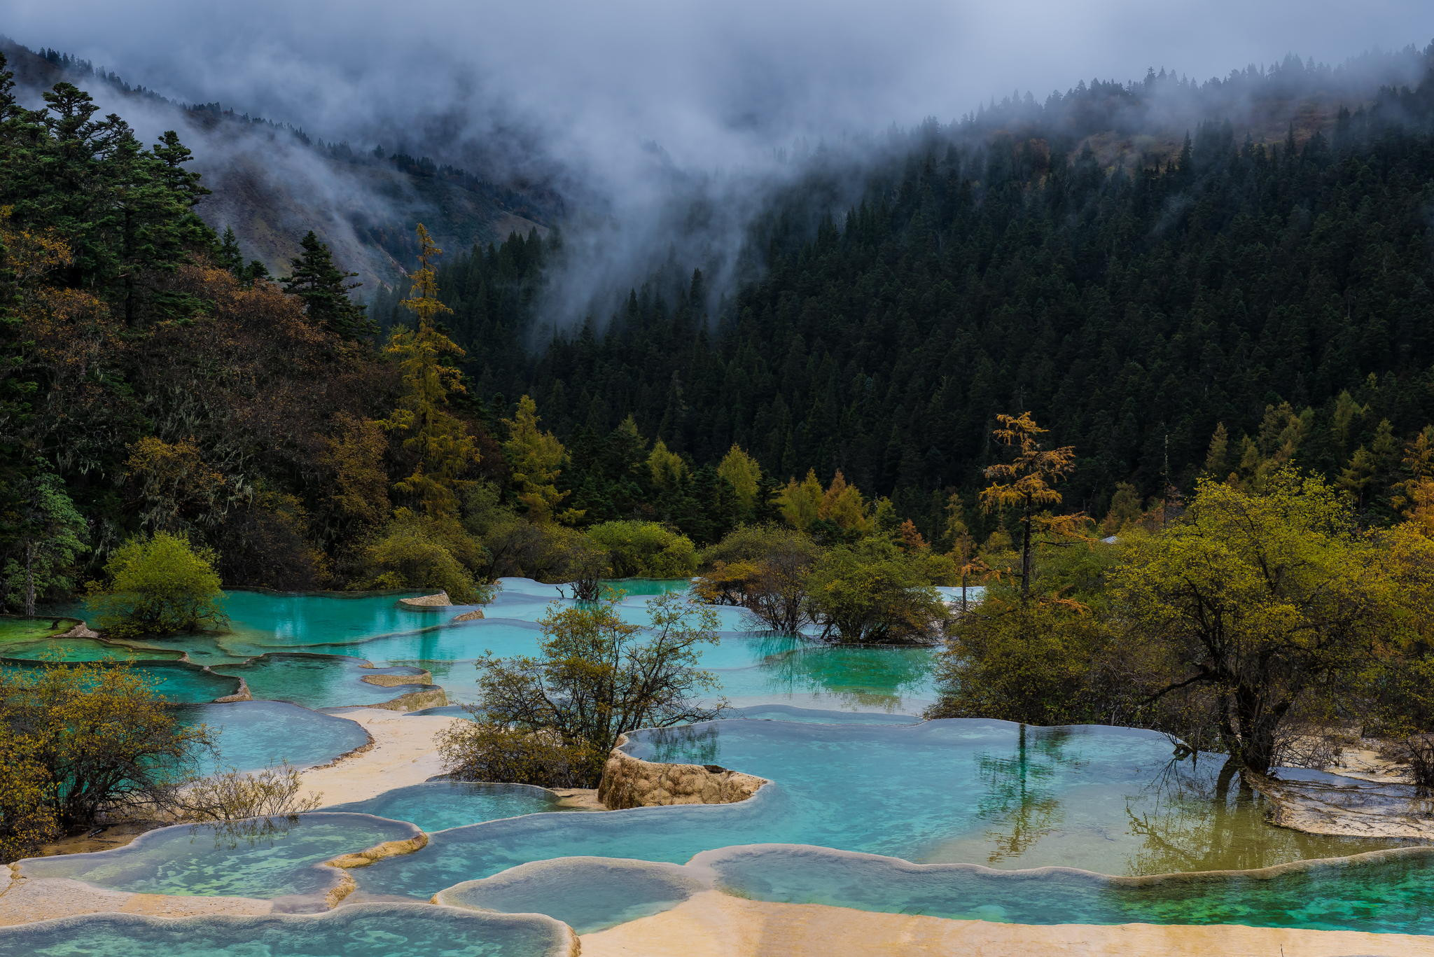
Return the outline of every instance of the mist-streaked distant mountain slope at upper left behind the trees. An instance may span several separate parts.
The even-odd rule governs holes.
[[[149,126],[178,131],[212,191],[198,208],[206,222],[232,228],[245,255],[275,271],[300,251],[298,238],[315,230],[358,273],[364,298],[402,277],[417,251],[416,221],[429,224],[442,244],[467,247],[542,228],[562,208],[542,185],[493,182],[391,146],[324,142],[221,103],[182,103],[57,50],[36,52],[0,36],[0,55],[26,100],[67,80],[90,92],[103,113],[118,112],[146,133]],[[351,207],[334,208],[336,195]]]

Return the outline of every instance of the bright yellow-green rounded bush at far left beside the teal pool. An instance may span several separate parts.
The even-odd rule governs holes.
[[[228,624],[215,555],[184,535],[135,537],[105,564],[108,584],[90,585],[96,624],[116,637],[182,634]]]

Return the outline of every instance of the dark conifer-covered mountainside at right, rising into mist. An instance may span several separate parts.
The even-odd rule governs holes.
[[[849,208],[850,169],[790,188],[739,290],[670,264],[561,334],[535,314],[551,244],[513,237],[446,257],[447,324],[480,393],[531,392],[565,440],[632,413],[695,461],[840,468],[928,534],[1007,409],[1076,445],[1067,501],[1097,517],[1117,484],[1292,461],[1378,518],[1434,420],[1431,50],[931,122]]]

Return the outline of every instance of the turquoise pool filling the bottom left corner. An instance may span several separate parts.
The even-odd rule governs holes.
[[[543,917],[370,904],[314,915],[69,917],[0,928],[0,956],[566,957],[569,940],[562,924]]]

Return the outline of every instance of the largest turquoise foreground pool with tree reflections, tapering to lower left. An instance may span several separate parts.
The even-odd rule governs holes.
[[[915,726],[723,720],[640,732],[652,760],[714,763],[773,781],[730,805],[532,815],[433,835],[356,871],[363,892],[426,898],[529,861],[612,857],[681,864],[740,844],[815,844],[918,862],[1108,874],[1256,868],[1388,841],[1272,828],[1222,791],[1216,762],[1172,762],[1162,735],[1005,722]]]

